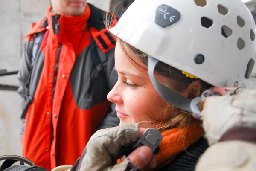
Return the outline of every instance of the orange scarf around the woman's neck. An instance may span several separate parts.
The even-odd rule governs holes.
[[[159,154],[156,155],[158,168],[175,159],[175,156],[185,151],[189,145],[196,142],[204,134],[200,121],[192,122],[183,129],[173,128],[161,133],[163,140],[160,143]]]

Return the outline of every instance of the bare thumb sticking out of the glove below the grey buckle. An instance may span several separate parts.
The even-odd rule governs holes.
[[[151,150],[151,148],[148,146],[142,146],[135,149],[131,154],[128,155],[127,158],[134,166],[138,168],[144,168],[148,164],[150,164],[151,167],[155,168],[156,162],[154,159],[152,159],[152,157],[153,151]]]

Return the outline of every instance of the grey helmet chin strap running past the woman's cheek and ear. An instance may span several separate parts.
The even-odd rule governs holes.
[[[148,74],[154,88],[157,90],[157,93],[169,104],[182,109],[186,110],[187,112],[192,112],[190,109],[191,101],[186,97],[182,96],[175,90],[172,90],[168,87],[165,87],[163,84],[157,81],[154,76],[154,69],[159,61],[151,56],[148,56]]]

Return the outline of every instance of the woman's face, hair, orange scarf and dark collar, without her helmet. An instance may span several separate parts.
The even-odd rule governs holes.
[[[157,93],[147,72],[147,54],[118,39],[115,56],[118,81],[108,94],[108,100],[116,103],[120,125],[139,123],[139,127],[157,128],[162,132],[160,152],[156,155],[158,167],[163,168],[171,161],[175,161],[173,167],[176,167],[181,164],[178,160],[186,156],[183,162],[190,164],[183,169],[193,168],[199,155],[207,148],[204,139],[200,139],[204,134],[201,123],[188,112],[168,104]],[[190,100],[199,96],[204,84],[163,63],[157,65],[155,73],[160,83]],[[188,151],[190,157],[183,153],[197,141],[194,148],[199,148],[200,153]]]

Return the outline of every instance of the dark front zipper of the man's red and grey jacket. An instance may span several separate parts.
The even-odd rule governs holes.
[[[58,35],[58,33],[59,33],[58,18],[59,18],[59,15],[56,15],[52,18],[52,20],[53,20],[52,24],[54,25],[53,30],[54,30],[55,35]],[[54,68],[53,89],[52,89],[52,104],[53,104],[53,99],[54,99],[55,86],[56,86],[56,82],[57,82],[58,62],[59,62],[59,57],[60,57],[60,53],[61,53],[61,47],[62,47],[62,44],[59,43],[58,52],[57,52],[57,56],[56,56],[56,64],[55,64],[55,68]],[[52,146],[52,141],[53,141],[53,123],[52,123],[52,112],[51,112],[51,146]]]

